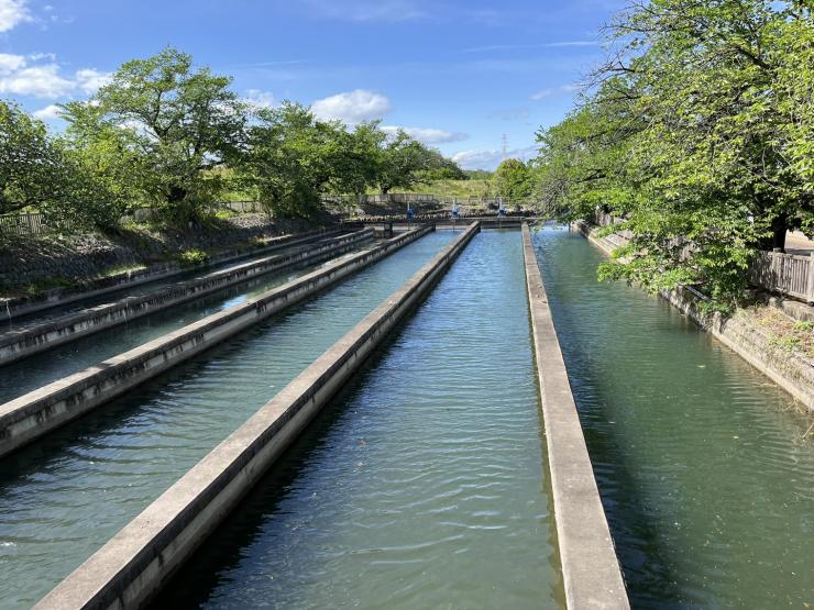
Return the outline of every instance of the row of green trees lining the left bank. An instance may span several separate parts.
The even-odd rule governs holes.
[[[94,97],[61,109],[68,126],[56,136],[0,102],[0,213],[28,208],[54,224],[106,229],[147,206],[157,220],[186,225],[242,189],[273,215],[312,218],[326,193],[464,176],[375,121],[322,121],[294,102],[255,108],[230,77],[172,47],[125,63]]]

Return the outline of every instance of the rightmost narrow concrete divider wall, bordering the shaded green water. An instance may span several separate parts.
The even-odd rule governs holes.
[[[525,223],[522,252],[565,601],[572,610],[629,608],[531,234]]]

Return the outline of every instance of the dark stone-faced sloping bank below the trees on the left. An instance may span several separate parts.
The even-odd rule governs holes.
[[[207,268],[211,268],[218,265],[235,263],[239,260],[271,254],[272,252],[276,252],[297,244],[305,244],[320,237],[329,237],[331,235],[338,235],[340,233],[346,233],[349,231],[358,229],[361,229],[361,223],[343,223],[334,229],[318,229],[315,231],[280,235],[278,237],[272,237],[271,240],[267,240],[265,246],[252,249],[250,252],[245,251],[245,248],[233,248],[231,251],[215,254],[210,257],[207,264],[201,265],[198,268],[200,270],[206,270]],[[87,279],[81,281],[80,286],[77,286],[75,288],[57,288],[46,290],[42,296],[0,299],[0,317],[6,320],[13,320],[14,318],[19,318],[21,315],[29,315],[88,298],[100,297],[102,295],[107,295],[108,292],[117,292],[120,290],[141,286],[142,284],[169,279],[188,273],[189,269],[179,267],[177,264],[164,263],[151,265],[145,269],[123,271],[107,277]]]

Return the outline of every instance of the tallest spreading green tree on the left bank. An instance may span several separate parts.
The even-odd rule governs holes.
[[[128,167],[140,198],[166,220],[195,220],[229,187],[227,174],[210,170],[242,152],[246,109],[230,84],[169,47],[122,65],[89,102],[66,104],[68,133],[100,151],[109,177]],[[111,151],[124,152],[122,167]]]

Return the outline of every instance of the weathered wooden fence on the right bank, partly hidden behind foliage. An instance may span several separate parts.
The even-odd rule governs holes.
[[[600,226],[612,226],[623,222],[623,219],[597,211],[594,214],[594,222]],[[630,237],[629,231],[619,231],[618,234],[626,240]],[[692,255],[692,244],[683,245],[681,258],[685,259]],[[759,252],[749,266],[749,282],[772,292],[814,303],[814,252],[809,256]]]

